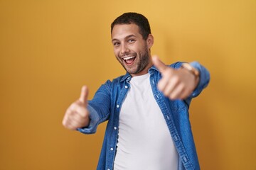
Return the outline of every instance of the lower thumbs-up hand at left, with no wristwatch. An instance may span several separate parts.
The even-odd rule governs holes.
[[[78,101],[75,101],[65,112],[63,126],[70,130],[86,127],[89,125],[89,111],[87,110],[87,97],[89,89],[82,86],[81,95]]]

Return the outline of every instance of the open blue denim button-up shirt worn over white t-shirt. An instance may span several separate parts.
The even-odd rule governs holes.
[[[170,67],[177,69],[181,67],[181,62],[171,64]],[[191,124],[188,116],[188,108],[193,97],[198,96],[201,91],[208,85],[210,74],[207,69],[198,62],[192,62],[191,65],[200,72],[200,81],[198,86],[193,91],[191,96],[186,100],[170,100],[157,89],[157,83],[161,79],[161,74],[156,67],[149,69],[151,90],[154,98],[164,115],[166,124],[169,128],[172,140],[176,146],[179,161],[178,170],[182,169],[200,169],[198,157],[196,154],[196,147],[193,141],[191,131]],[[78,128],[78,130],[85,134],[95,133],[97,126],[108,120],[105,132],[105,138],[102,145],[102,151],[98,162],[98,170],[113,169],[114,157],[117,151],[117,137],[119,127],[119,113],[124,102],[124,98],[129,91],[130,74],[125,74],[122,77],[108,80],[105,84],[100,86],[100,89],[95,93],[92,101],[88,102],[88,109],[90,111],[90,125],[86,128]]]

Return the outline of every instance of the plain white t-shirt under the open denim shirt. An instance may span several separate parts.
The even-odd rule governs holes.
[[[119,115],[114,170],[177,170],[178,153],[154,99],[149,74],[132,77]]]

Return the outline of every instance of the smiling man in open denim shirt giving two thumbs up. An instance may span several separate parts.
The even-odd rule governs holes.
[[[114,55],[127,71],[107,81],[87,101],[66,111],[63,125],[85,134],[108,120],[97,169],[200,169],[188,107],[208,85],[208,71],[198,62],[166,66],[151,57],[149,22],[139,13],[124,13],[111,25]]]

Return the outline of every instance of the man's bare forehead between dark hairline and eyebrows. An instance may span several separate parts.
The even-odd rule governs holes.
[[[139,33],[139,26],[134,23],[117,24],[112,30],[112,39],[119,40],[122,38],[126,38],[129,35],[134,35],[142,38],[142,35]]]

